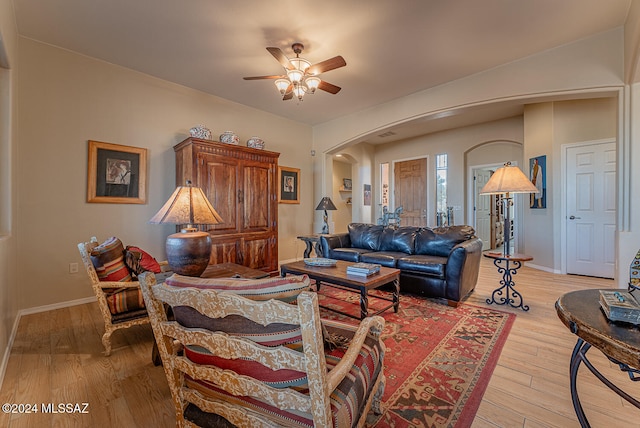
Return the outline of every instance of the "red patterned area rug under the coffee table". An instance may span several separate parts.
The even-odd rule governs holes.
[[[323,286],[319,297],[322,306],[359,314],[357,293]],[[387,304],[369,299],[370,311]],[[326,318],[357,322],[325,309],[321,312]],[[381,315],[386,320],[387,385],[383,414],[370,413],[367,425],[470,426],[515,315],[466,304],[452,308],[409,295],[401,295],[397,314],[389,309]]]

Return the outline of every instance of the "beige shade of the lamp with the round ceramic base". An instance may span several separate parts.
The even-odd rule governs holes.
[[[178,187],[160,211],[149,223],[162,224],[218,224],[222,218],[213,208],[204,192],[199,187]]]

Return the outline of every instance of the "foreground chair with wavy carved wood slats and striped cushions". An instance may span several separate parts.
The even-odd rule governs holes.
[[[309,286],[140,276],[178,426],[360,427],[379,411],[384,319],[321,320]]]

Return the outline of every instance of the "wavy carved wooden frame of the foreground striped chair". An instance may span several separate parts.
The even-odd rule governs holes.
[[[233,395],[251,395],[280,409],[295,409],[310,413],[317,427],[332,425],[330,395],[351,370],[358,357],[366,337],[373,335],[380,340],[384,329],[382,317],[369,317],[354,327],[355,334],[348,350],[331,371],[327,372],[324,354],[324,341],[317,294],[303,291],[298,296],[297,305],[277,300],[253,301],[229,292],[216,292],[207,289],[178,288],[166,284],[156,284],[155,276],[144,273],[140,276],[140,287],[149,311],[151,326],[162,357],[162,362],[176,408],[178,426],[193,426],[185,421],[184,410],[193,403],[205,412],[223,416],[238,427],[277,426],[274,421],[253,410],[236,407],[227,402],[205,397],[203,394],[185,386],[184,375],[207,379]],[[286,347],[267,348],[245,338],[229,336],[223,332],[212,332],[200,328],[185,328],[176,321],[167,319],[165,305],[189,306],[211,318],[222,318],[231,314],[241,315],[261,325],[270,323],[288,323],[300,325],[303,350],[297,352]],[[326,326],[331,321],[322,320]],[[344,324],[340,324],[344,327]],[[224,358],[250,357],[271,368],[283,368],[306,372],[309,394],[295,390],[274,389],[259,380],[240,376],[232,371],[224,371],[214,366],[193,363],[180,352],[183,346],[198,345],[214,355]],[[380,341],[384,358],[384,343]],[[357,426],[366,421],[373,407],[380,412],[380,401],[384,392],[384,368],[374,379],[370,394],[365,397],[363,412],[358,416]]]

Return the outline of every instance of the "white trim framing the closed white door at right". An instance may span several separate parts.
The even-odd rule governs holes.
[[[577,143],[566,143],[560,145],[560,182],[562,188],[562,194],[560,197],[560,273],[567,274],[567,187],[568,187],[568,179],[567,179],[567,168],[565,168],[567,164],[568,151],[571,148],[575,147],[584,147],[584,146],[592,146],[595,144],[604,144],[604,143],[615,143],[616,151],[620,150],[620,145],[618,144],[617,138],[603,138],[601,140],[588,140],[588,141],[579,141]],[[616,153],[616,176],[620,173],[620,155]],[[619,181],[616,182],[616,185],[619,184]],[[616,190],[617,195],[620,195],[620,190]],[[616,230],[619,230],[619,201],[616,203]],[[614,245],[614,249],[616,251],[615,260],[618,259],[618,245]],[[614,269],[614,280],[615,276],[618,274],[617,269]]]

